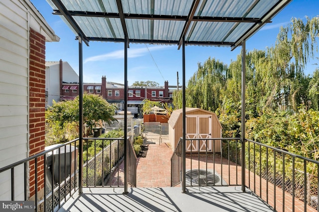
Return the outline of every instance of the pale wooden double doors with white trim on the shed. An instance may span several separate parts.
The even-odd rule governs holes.
[[[211,116],[186,116],[186,139],[211,138]],[[205,152],[211,150],[211,141],[186,140],[186,151]]]

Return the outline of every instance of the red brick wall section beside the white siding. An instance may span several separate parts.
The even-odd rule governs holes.
[[[29,61],[29,156],[44,151],[45,147],[45,37],[30,28]],[[37,180],[44,188],[43,157],[37,161]],[[34,160],[29,163],[29,197],[35,194]]]

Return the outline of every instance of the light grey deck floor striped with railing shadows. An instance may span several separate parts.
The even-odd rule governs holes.
[[[84,188],[59,212],[273,212],[240,187]]]

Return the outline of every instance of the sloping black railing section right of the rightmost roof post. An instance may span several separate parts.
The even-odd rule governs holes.
[[[319,161],[247,140],[246,169],[246,186],[274,210],[318,210]]]

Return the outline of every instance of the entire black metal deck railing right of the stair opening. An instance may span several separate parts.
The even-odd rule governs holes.
[[[318,211],[319,161],[246,140],[242,166],[240,138],[186,140],[197,143],[190,147],[199,147],[199,142],[206,142],[206,146],[212,142],[212,149],[206,148],[203,152],[190,149],[183,160],[180,139],[171,157],[171,186],[183,180],[186,187],[242,186],[245,182],[244,187],[275,211]],[[214,149],[215,142],[220,142],[220,153]],[[186,170],[182,170],[183,162]]]

